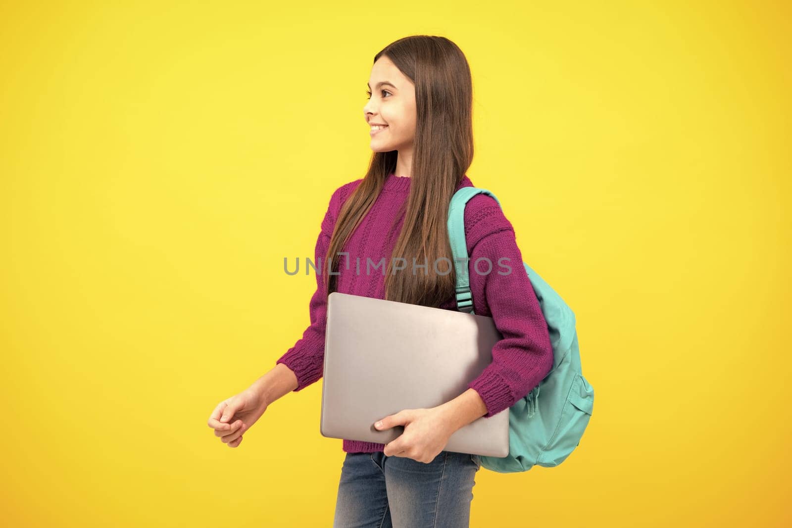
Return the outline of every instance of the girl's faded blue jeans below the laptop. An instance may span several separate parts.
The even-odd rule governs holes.
[[[440,451],[425,464],[382,451],[347,453],[333,528],[469,526],[478,454]]]

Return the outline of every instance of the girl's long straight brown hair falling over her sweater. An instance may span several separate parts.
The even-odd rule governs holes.
[[[379,51],[374,62],[383,55],[415,85],[417,113],[412,180],[406,206],[396,216],[398,220],[404,212],[405,220],[386,262],[385,298],[438,307],[455,294],[448,205],[473,161],[470,66],[462,50],[443,36],[406,36]],[[325,256],[325,262],[333,256],[333,269],[345,262],[337,253],[379,196],[385,178],[395,171],[397,156],[396,150],[375,152],[363,181],[341,208]],[[394,273],[391,268],[398,257],[405,259],[405,267]],[[439,260],[443,257],[447,260]],[[416,268],[413,274],[413,259],[427,268]],[[335,276],[325,273],[328,294],[335,288]]]

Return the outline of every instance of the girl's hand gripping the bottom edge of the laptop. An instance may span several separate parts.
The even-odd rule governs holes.
[[[436,407],[404,409],[386,416],[377,424],[374,427],[378,431],[395,425],[405,426],[404,432],[385,446],[383,452],[386,456],[413,458],[425,464],[440,454],[454,433],[451,423]]]

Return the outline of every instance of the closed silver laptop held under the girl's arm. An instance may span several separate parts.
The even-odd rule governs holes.
[[[333,291],[322,383],[323,436],[389,443],[404,431],[375,421],[453,400],[492,363],[492,317]],[[508,408],[455,431],[444,450],[508,455]]]

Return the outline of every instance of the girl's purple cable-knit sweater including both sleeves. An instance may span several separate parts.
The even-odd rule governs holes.
[[[360,257],[361,265],[364,265],[367,257],[374,262],[382,257],[385,257],[386,263],[390,261],[396,237],[402,230],[404,215],[398,219],[394,230],[390,230],[390,222],[395,220],[399,207],[409,195],[410,180],[409,177],[397,177],[394,174],[386,177],[382,192],[344,246],[344,250],[349,252],[351,268],[345,272],[345,266],[341,265],[337,270],[340,272],[340,275],[336,275],[337,291],[370,298],[385,297],[384,272],[356,274],[354,263],[357,257]],[[319,258],[322,258],[322,262],[325,260],[341,205],[361,181],[354,180],[342,185],[330,197],[315,248],[314,264],[320,270],[324,268],[319,268]],[[473,183],[465,176],[458,188],[471,186]],[[512,224],[491,196],[479,194],[467,203],[465,235],[475,313],[493,317],[495,326],[503,336],[493,347],[493,362],[468,384],[482,397],[487,408],[484,416],[489,418],[511,407],[539,385],[553,366],[553,349],[547,323],[516,245]],[[474,263],[482,256],[493,263],[489,273],[486,273],[486,260],[479,262],[480,273],[474,269]],[[498,273],[505,271],[498,264],[498,259],[503,256],[510,259],[505,261],[512,268],[508,275]],[[343,264],[345,259],[341,258],[339,262]],[[318,381],[324,371],[327,294],[324,275],[315,275],[317,290],[310,298],[310,325],[295,346],[276,361],[276,364],[284,363],[294,371],[298,381],[295,392]],[[450,298],[440,308],[456,310],[456,299]],[[384,448],[385,444],[382,443],[347,439],[343,443],[343,450],[347,453],[371,453]]]

